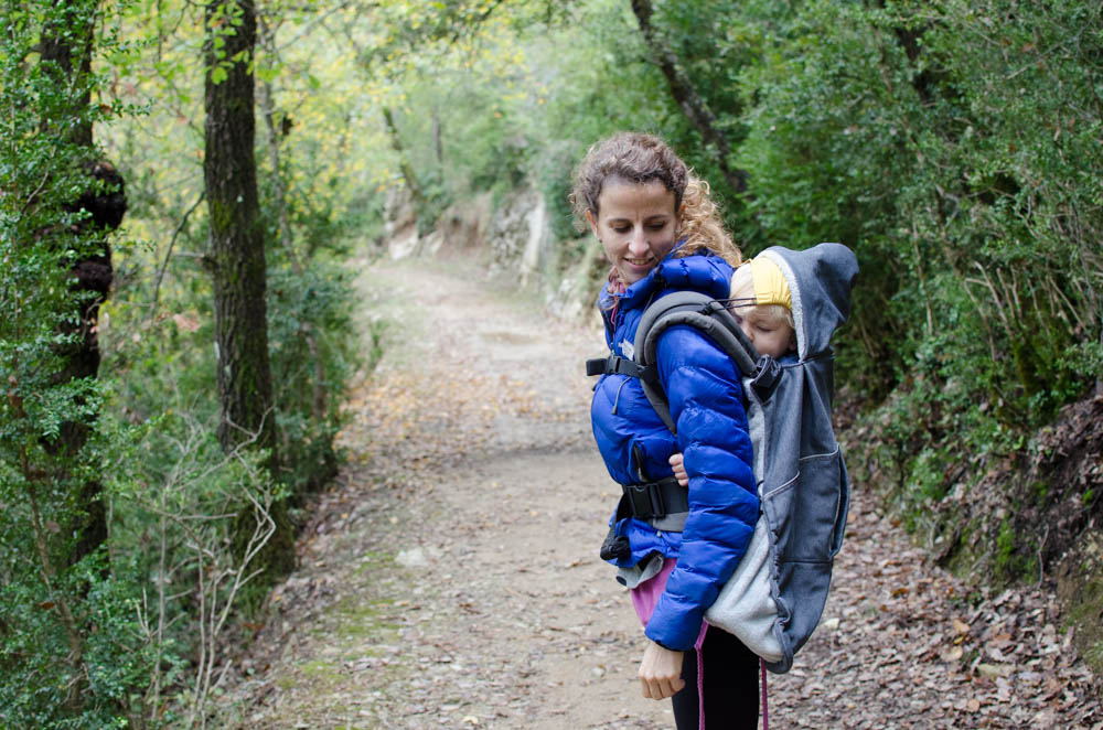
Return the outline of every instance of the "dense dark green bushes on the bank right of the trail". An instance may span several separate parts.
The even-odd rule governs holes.
[[[876,441],[850,453],[881,464],[911,529],[942,534],[962,516],[932,505],[1022,452],[1103,369],[1103,18],[1084,2],[747,3],[728,28],[757,51],[738,79],[747,239],[856,250],[839,382]],[[1013,538],[993,546],[1002,581],[1036,572]]]

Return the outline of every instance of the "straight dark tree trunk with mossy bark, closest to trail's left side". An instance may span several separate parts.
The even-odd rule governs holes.
[[[226,452],[268,449],[275,475],[276,448],[271,369],[268,359],[265,239],[254,157],[255,100],[250,71],[257,37],[251,1],[212,0],[206,6],[203,178],[211,218],[207,265],[214,283],[218,442]],[[276,534],[257,557],[261,586],[295,566],[295,545],[285,501],[272,505]],[[256,526],[246,511],[238,519],[240,557]]]

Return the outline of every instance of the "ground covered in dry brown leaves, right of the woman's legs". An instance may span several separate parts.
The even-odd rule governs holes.
[[[825,621],[771,677],[782,727],[1103,728],[1051,590],[964,586],[856,497]]]

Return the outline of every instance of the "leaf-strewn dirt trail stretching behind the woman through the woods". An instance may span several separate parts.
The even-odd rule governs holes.
[[[473,270],[363,277],[384,356],[223,727],[673,727],[640,696],[645,640],[597,557],[614,485],[582,361],[601,335]],[[1048,595],[978,597],[855,491],[824,622],[770,676],[772,727],[1103,728]]]

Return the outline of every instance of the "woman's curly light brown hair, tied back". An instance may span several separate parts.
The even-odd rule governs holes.
[[[707,250],[733,267],[742,262],[742,254],[724,227],[708,183],[653,135],[618,132],[589,149],[575,171],[574,187],[568,195],[579,232],[586,230],[587,211],[598,215],[598,197],[610,179],[636,184],[657,180],[674,193],[679,219],[677,238],[682,241],[675,256]]]

